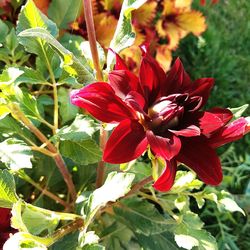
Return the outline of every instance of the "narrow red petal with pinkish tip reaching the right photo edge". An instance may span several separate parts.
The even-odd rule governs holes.
[[[231,122],[209,138],[210,146],[218,148],[229,142],[239,140],[248,132],[247,125],[248,122],[244,117]]]

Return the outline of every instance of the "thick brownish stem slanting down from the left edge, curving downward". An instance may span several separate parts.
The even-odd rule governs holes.
[[[20,108],[17,105],[11,105],[10,109],[12,113],[24,123],[24,125],[42,142],[45,143],[49,151],[53,154],[53,157],[59,171],[61,172],[64,181],[67,184],[69,193],[71,195],[72,201],[76,199],[76,190],[74,183],[72,181],[71,175],[67,169],[67,166],[64,163],[64,160],[61,154],[58,152],[57,148],[48,140],[48,138],[38,129],[33,123],[23,114]]]

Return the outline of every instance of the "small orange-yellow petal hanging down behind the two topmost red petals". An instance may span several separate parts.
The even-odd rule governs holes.
[[[156,48],[156,60],[165,72],[170,69],[170,65],[172,62],[172,53],[168,49],[167,45],[159,45]]]

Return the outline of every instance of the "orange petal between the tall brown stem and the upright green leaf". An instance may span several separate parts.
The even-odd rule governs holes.
[[[117,20],[108,13],[101,13],[94,16],[97,41],[105,48],[109,48],[109,44],[114,36]]]

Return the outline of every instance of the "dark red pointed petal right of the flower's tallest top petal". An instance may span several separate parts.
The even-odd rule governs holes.
[[[190,77],[186,73],[180,58],[177,58],[167,75],[162,95],[184,93],[183,90],[187,89],[190,84]]]

